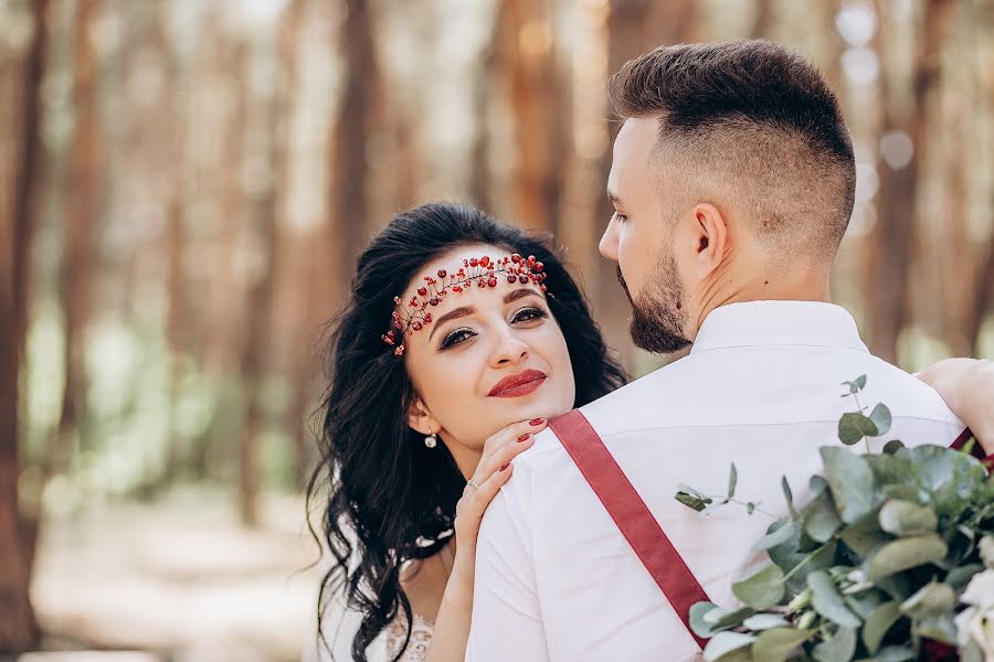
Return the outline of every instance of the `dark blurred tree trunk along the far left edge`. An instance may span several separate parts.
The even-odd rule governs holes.
[[[32,6],[34,34],[24,63],[18,118],[22,143],[13,170],[10,210],[0,204],[0,653],[34,648],[39,631],[31,608],[31,570],[38,523],[21,515],[18,505],[20,476],[20,389],[28,317],[28,264],[34,221],[34,186],[40,151],[41,81],[45,68],[47,0]],[[3,201],[0,195],[0,203]]]

